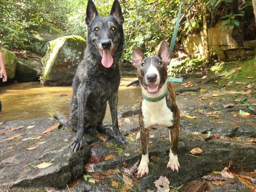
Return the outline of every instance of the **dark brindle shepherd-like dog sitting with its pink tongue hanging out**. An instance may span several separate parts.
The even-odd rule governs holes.
[[[107,17],[100,17],[93,1],[88,1],[87,48],[73,80],[70,120],[66,120],[61,114],[54,115],[63,125],[77,131],[76,138],[70,144],[72,151],[81,148],[84,132],[106,132],[102,121],[107,101],[110,106],[113,135],[120,143],[128,143],[121,135],[117,121],[117,91],[121,76],[119,59],[124,43],[123,22],[124,17],[118,0],[114,1]]]

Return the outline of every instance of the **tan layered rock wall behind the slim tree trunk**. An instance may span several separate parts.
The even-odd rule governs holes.
[[[212,46],[219,60],[232,61],[238,58],[248,60],[255,57],[256,39],[244,41],[243,46],[239,46],[235,39],[232,38],[234,27],[226,30],[226,26],[220,26],[221,22],[218,22],[214,27],[208,29],[209,46]],[[181,44],[188,55],[204,58],[202,32],[189,34],[181,39]]]

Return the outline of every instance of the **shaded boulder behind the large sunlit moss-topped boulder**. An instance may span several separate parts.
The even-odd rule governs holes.
[[[32,38],[29,41],[30,51],[43,57],[47,51],[47,42],[64,36],[53,26],[32,26],[29,27]]]

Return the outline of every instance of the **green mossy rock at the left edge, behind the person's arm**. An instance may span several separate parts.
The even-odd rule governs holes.
[[[13,52],[3,47],[1,47],[1,50],[4,57],[4,64],[5,64],[5,70],[7,73],[7,79],[13,79],[15,76],[15,69],[17,65],[16,55]]]

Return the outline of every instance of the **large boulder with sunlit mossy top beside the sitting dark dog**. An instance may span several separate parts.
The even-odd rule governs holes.
[[[71,85],[77,65],[84,57],[86,42],[81,36],[64,36],[48,43],[42,58],[42,85]]]

